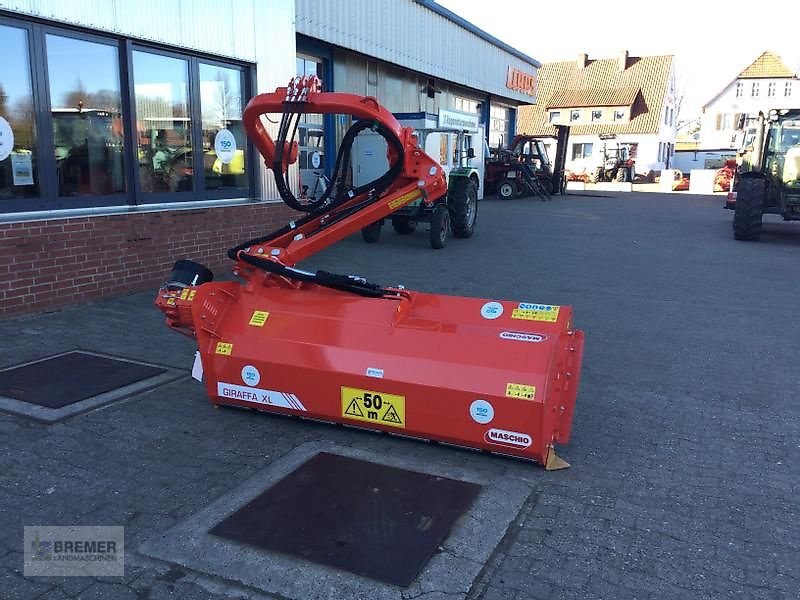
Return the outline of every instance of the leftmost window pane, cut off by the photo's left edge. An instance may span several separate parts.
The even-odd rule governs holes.
[[[0,25],[0,48],[1,202],[38,196],[39,174],[27,32]]]

